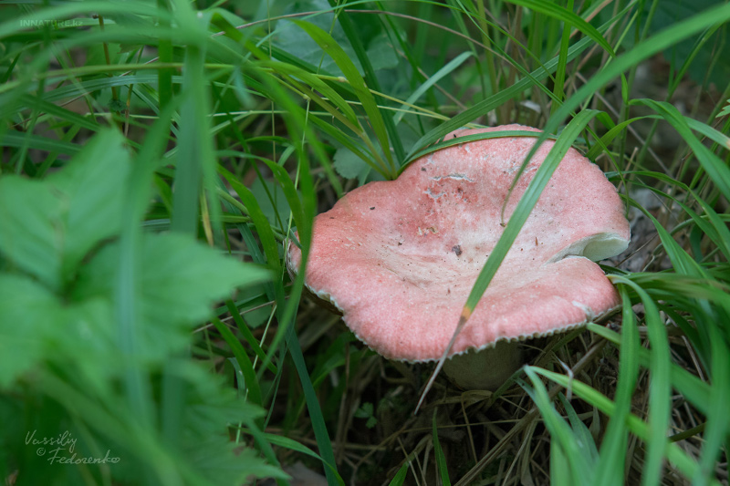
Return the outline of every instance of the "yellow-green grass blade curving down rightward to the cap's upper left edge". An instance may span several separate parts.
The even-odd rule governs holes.
[[[355,67],[355,65],[349,59],[348,55],[345,53],[342,47],[339,47],[337,42],[332,38],[332,36],[329,36],[327,32],[320,29],[318,26],[309,24],[308,22],[304,22],[302,20],[294,20],[292,22],[294,22],[297,26],[301,27],[302,30],[307,32],[307,34],[312,37],[315,42],[317,42],[319,47],[321,47],[322,50],[324,50],[329,55],[329,57],[332,57],[335,63],[337,63],[337,66],[342,70],[342,74],[345,75],[345,78],[347,78],[347,80],[349,81],[350,86],[355,90],[355,94],[357,95],[358,99],[360,99],[360,103],[362,103],[362,109],[364,109],[365,113],[368,115],[370,126],[372,127],[373,131],[375,132],[376,138],[381,144],[381,149],[385,154],[385,158],[388,161],[389,165],[389,167],[383,169],[388,171],[388,173],[391,175],[391,178],[395,177],[397,167],[392,160],[390,150],[391,146],[388,141],[388,131],[387,129],[385,129],[381,110],[378,108],[378,104],[375,102],[375,98],[373,98],[372,94],[370,93],[370,89],[368,89],[368,87],[365,85],[365,80],[360,76],[358,68]]]

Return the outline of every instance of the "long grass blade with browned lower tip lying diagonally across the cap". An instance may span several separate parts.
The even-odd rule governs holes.
[[[454,336],[452,336],[448,346],[446,346],[446,348],[443,350],[442,357],[439,359],[436,368],[433,370],[433,374],[426,383],[426,386],[422,391],[421,398],[418,401],[418,405],[416,405],[416,412],[419,408],[421,408],[423,399],[433,385],[433,381],[439,374],[439,371],[441,371],[441,368],[443,367],[443,362],[446,360],[446,357],[449,356],[449,352],[451,351],[452,346],[454,346],[456,336],[458,336],[462,328],[464,328],[464,325],[467,323],[469,317],[474,312],[474,308],[479,303],[479,300],[481,300],[482,295],[485,294],[486,287],[495,276],[496,271],[499,269],[499,265],[502,264],[502,261],[505,259],[507,252],[512,246],[512,243],[515,242],[517,234],[522,229],[523,224],[525,224],[525,222],[527,221],[527,217],[529,216],[530,212],[532,212],[535,204],[537,204],[537,199],[540,197],[543,189],[545,189],[545,186],[547,186],[547,182],[550,180],[553,172],[558,168],[560,160],[562,160],[565,154],[568,152],[573,141],[578,138],[582,129],[584,129],[588,122],[593,119],[597,114],[598,111],[596,110],[586,109],[581,111],[579,115],[576,116],[576,118],[570,120],[568,126],[562,131],[558,139],[555,141],[555,145],[550,150],[545,161],[540,164],[539,168],[537,168],[537,171],[535,172],[535,177],[532,181],[530,181],[529,185],[527,186],[527,190],[522,195],[522,198],[519,200],[519,202],[517,202],[515,212],[512,213],[509,222],[506,224],[504,233],[502,233],[502,236],[499,237],[499,240],[495,244],[495,248],[486,259],[485,266],[476,277],[476,281],[472,286],[472,291],[470,292],[469,296],[466,299],[466,303],[464,304],[462,315],[461,317],[459,317],[459,323],[454,330]],[[537,135],[540,134],[537,133]],[[543,133],[542,136],[544,137],[545,134]],[[530,160],[534,153],[535,150],[530,151],[527,159],[525,160],[525,162],[523,162],[523,167],[527,164],[527,162]]]

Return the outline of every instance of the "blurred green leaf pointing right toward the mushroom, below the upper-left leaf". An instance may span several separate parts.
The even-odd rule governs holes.
[[[78,275],[76,300],[101,296],[111,300],[119,245],[107,245]],[[160,358],[183,349],[189,326],[211,315],[214,301],[236,285],[259,284],[270,274],[254,264],[241,264],[179,234],[146,234],[141,245],[141,270],[136,288],[141,319],[141,353]]]

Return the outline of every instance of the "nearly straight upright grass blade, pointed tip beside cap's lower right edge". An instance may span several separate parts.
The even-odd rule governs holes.
[[[631,309],[631,299],[627,289],[620,288],[622,306],[622,326],[619,355],[619,380],[616,396],[613,399],[614,410],[610,415],[606,435],[600,446],[600,457],[596,464],[594,481],[596,486],[620,485],[624,482],[626,444],[625,423],[631,414],[631,397],[639,376],[639,362],[636,359],[639,346],[639,330],[636,316]]]

